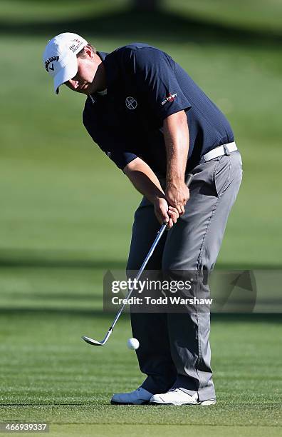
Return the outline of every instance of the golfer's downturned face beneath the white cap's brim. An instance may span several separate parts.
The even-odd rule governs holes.
[[[73,79],[65,82],[68,88],[81,94],[92,94],[96,91],[94,77],[98,69],[98,62],[92,50],[85,48],[85,57],[78,58],[78,72]]]

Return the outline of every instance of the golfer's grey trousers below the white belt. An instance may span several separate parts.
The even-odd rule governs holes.
[[[211,271],[214,267],[241,184],[239,151],[201,161],[192,174],[185,213],[162,237],[147,264],[149,270]],[[140,268],[159,229],[153,205],[143,198],[135,212],[127,271]],[[136,351],[140,370],[147,374],[143,388],[153,394],[182,388],[189,394],[197,391],[199,401],[215,398],[208,311],[132,312],[131,325],[140,341]]]

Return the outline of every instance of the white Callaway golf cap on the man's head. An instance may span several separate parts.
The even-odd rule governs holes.
[[[51,39],[43,53],[43,64],[54,79],[54,89],[70,80],[78,72],[76,55],[88,42],[77,34],[66,32]]]

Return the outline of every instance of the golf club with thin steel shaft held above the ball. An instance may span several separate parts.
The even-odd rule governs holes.
[[[189,186],[191,184],[192,179],[193,179],[193,175],[192,174],[188,174],[187,179],[186,179],[187,186]],[[162,238],[162,234],[164,233],[166,228],[167,228],[167,223],[162,224],[162,226],[160,228],[160,231],[158,231],[158,233],[157,233],[157,236],[155,238],[154,243],[152,243],[152,247],[150,248],[150,251],[147,253],[146,258],[143,261],[142,266],[140,267],[140,271],[137,273],[135,281],[138,281],[138,279],[142,275],[145,267],[147,266],[147,262],[149,261],[150,257],[152,256],[152,253],[155,251],[155,247],[157,246],[157,243],[159,243],[160,239]],[[130,288],[130,290],[128,291],[127,296],[125,298],[126,301],[130,298],[131,293],[132,293],[133,290],[134,290],[134,287]],[[117,320],[120,318],[120,314],[122,313],[123,309],[125,308],[125,305],[126,305],[126,303],[123,303],[122,307],[120,308],[120,311],[118,311],[117,315],[114,318],[112,326],[110,326],[110,328],[108,330],[108,333],[105,335],[105,338],[102,341],[97,341],[97,340],[94,340],[93,338],[90,338],[90,337],[87,337],[87,336],[83,336],[81,338],[86,343],[91,344],[93,346],[103,346],[108,341],[108,338],[110,337],[110,334],[113,332],[113,328],[115,328],[115,323],[117,323]]]

